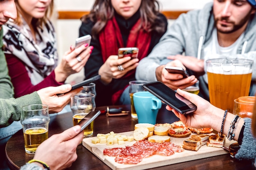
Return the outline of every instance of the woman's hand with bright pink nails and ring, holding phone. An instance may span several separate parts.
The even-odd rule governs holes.
[[[82,70],[93,49],[93,46],[90,46],[89,48],[87,47],[88,44],[81,45],[78,48],[71,46],[70,50],[65,52],[61,63],[59,63],[54,69],[55,79],[57,82],[63,82],[71,74],[80,72]],[[85,50],[85,48],[87,49]],[[78,56],[81,58],[81,61],[76,58]]]

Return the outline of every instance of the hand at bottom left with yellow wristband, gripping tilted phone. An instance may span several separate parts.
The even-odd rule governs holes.
[[[62,133],[52,135],[36,149],[34,159],[45,162],[51,170],[63,170],[76,160],[76,147],[83,140],[81,127],[73,126]]]

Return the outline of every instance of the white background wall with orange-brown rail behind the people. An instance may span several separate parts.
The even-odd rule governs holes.
[[[167,15],[168,26],[182,12],[193,9],[201,9],[208,2],[213,0],[158,0],[160,10]],[[58,54],[61,57],[71,45],[74,46],[75,39],[79,36],[79,18],[88,13],[94,4],[94,0],[55,0],[55,11],[52,21],[55,25]],[[69,76],[66,83],[78,83],[84,79],[83,70]]]

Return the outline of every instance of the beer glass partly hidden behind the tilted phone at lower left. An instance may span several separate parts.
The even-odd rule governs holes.
[[[94,111],[96,108],[95,95],[91,93],[79,93],[71,96],[70,108],[73,114],[74,126],[80,122],[85,116]],[[83,131],[83,137],[91,137],[93,135],[92,121]]]

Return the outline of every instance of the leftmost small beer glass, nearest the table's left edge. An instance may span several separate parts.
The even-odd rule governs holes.
[[[47,105],[26,105],[22,107],[22,124],[25,152],[35,154],[37,147],[48,139],[50,116]]]

